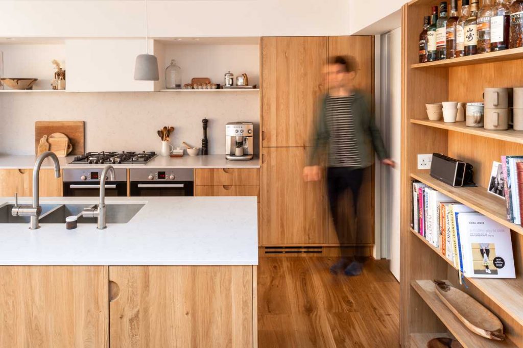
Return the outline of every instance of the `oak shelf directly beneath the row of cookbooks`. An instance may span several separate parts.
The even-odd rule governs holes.
[[[442,259],[447,261],[448,264],[454,267],[452,261],[447,259],[441,251],[428,242],[425,237],[412,228],[411,232]],[[467,278],[467,281],[488,295],[495,304],[506,311],[518,323],[523,324],[523,282],[521,279]]]

